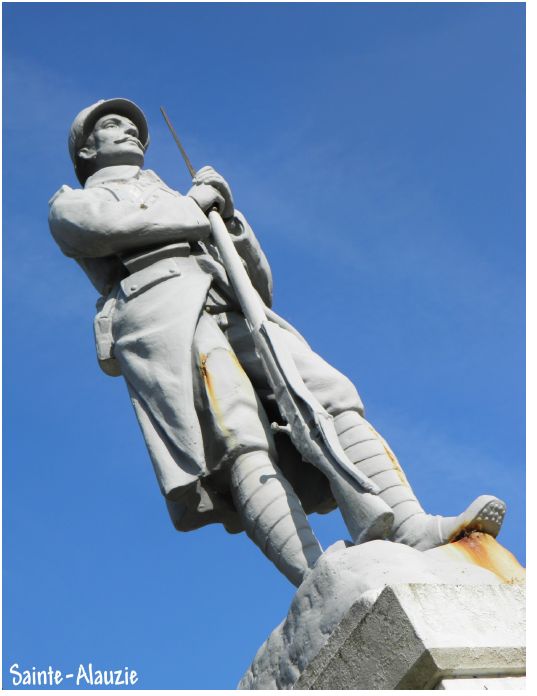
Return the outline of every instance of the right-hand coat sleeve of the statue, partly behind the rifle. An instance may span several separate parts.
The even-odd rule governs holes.
[[[235,210],[226,222],[235,248],[242,257],[252,285],[267,307],[272,307],[272,272],[267,257],[244,215]]]

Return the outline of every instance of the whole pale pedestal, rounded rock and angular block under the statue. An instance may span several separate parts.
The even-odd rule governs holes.
[[[524,571],[487,535],[329,549],[242,689],[520,689]]]

